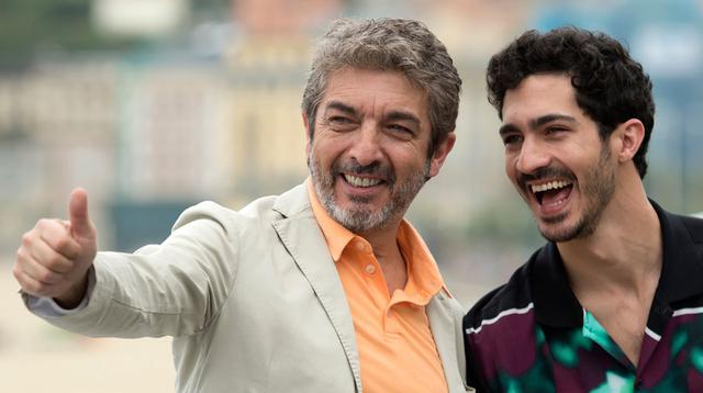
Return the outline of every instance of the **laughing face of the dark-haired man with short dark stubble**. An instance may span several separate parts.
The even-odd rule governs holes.
[[[578,106],[563,74],[533,75],[505,93],[505,171],[542,235],[568,242],[592,234],[615,190],[616,160]]]

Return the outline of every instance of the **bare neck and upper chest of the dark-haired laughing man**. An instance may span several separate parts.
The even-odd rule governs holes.
[[[636,366],[662,255],[659,218],[644,188],[616,190],[591,236],[557,247],[573,294]]]

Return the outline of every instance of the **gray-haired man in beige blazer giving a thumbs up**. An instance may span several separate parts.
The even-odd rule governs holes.
[[[421,23],[338,21],[303,94],[305,183],[203,202],[133,255],[96,254],[78,189],[69,221],[23,236],[23,297],[72,332],[174,336],[178,392],[462,392],[462,312],[403,220],[454,146],[460,86]]]

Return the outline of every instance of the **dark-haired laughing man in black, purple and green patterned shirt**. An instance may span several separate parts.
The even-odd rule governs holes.
[[[615,40],[494,55],[505,171],[548,243],[464,319],[478,391],[703,391],[703,221],[647,199],[651,82]]]

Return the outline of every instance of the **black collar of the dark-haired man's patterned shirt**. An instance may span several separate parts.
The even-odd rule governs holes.
[[[667,213],[649,201],[661,227],[662,266],[655,300],[667,305],[703,293],[698,278],[703,276],[703,261],[681,217]],[[698,243],[701,243],[700,240]],[[531,258],[529,284],[537,322],[553,327],[580,327],[583,307],[569,287],[563,260],[554,242],[547,243]],[[652,304],[654,306],[654,304]],[[670,313],[670,307],[667,307]],[[656,310],[655,310],[656,311]],[[661,310],[665,313],[663,310]]]

